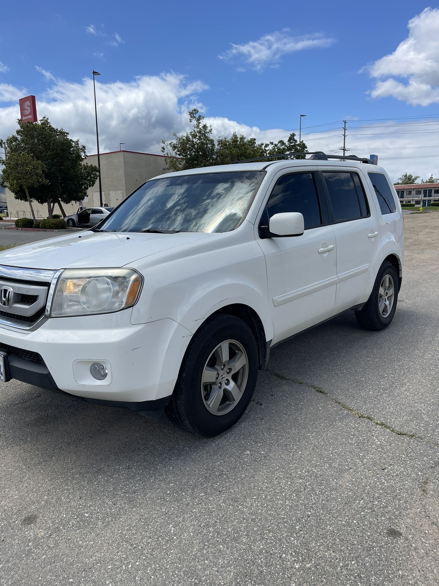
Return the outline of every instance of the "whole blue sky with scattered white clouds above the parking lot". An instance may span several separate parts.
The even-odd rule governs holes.
[[[96,152],[160,153],[197,107],[214,136],[378,154],[392,179],[439,176],[439,4],[417,0],[2,3],[0,138],[18,99]],[[0,152],[2,155],[2,152]]]

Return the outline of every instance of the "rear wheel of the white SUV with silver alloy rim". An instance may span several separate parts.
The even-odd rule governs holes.
[[[398,277],[395,267],[385,261],[376,275],[372,293],[361,311],[355,312],[356,321],[363,329],[379,331],[392,322],[398,301]]]

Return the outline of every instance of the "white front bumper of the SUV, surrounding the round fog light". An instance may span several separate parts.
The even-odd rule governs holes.
[[[28,333],[0,328],[0,350],[9,356],[12,378],[44,389],[92,402],[124,403],[121,407],[169,397],[191,333],[172,319],[132,325],[130,318],[131,309],[126,309],[52,318]],[[107,379],[90,376],[92,362],[108,364]],[[137,407],[148,410],[146,404]]]

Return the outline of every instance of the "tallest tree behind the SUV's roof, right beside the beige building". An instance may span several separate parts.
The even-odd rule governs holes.
[[[190,132],[179,137],[173,134],[174,141],[162,141],[162,152],[166,155],[166,164],[172,171],[183,171],[214,164],[215,141],[211,137],[212,127],[204,122],[204,116],[198,114],[197,108],[188,111],[189,122],[194,122]]]

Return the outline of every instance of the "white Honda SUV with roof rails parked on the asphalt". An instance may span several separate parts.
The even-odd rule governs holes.
[[[392,321],[403,218],[369,159],[168,173],[97,228],[0,253],[0,378],[213,436],[270,348],[347,309]]]

